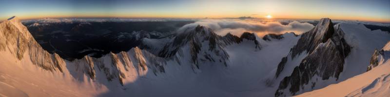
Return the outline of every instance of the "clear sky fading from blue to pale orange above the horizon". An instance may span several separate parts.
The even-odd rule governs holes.
[[[390,0],[0,0],[0,19],[253,16],[390,22]]]

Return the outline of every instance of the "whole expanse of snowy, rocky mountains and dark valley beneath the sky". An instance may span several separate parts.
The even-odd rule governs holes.
[[[322,18],[303,34],[264,37],[221,36],[202,25],[121,32],[129,29],[120,24],[1,22],[0,96],[326,97],[316,93],[367,76],[374,82],[335,96],[390,95],[390,33],[361,23]]]

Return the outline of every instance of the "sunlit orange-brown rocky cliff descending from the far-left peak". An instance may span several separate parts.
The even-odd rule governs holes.
[[[14,16],[0,23],[0,37],[1,51],[9,51],[19,60],[29,57],[34,65],[45,70],[62,72],[64,60],[59,58],[58,54],[43,50],[18,17]],[[28,53],[28,56],[25,56],[25,53]]]

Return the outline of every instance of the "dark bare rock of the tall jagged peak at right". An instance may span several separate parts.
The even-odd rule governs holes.
[[[304,89],[304,85],[312,81],[315,75],[321,77],[322,80],[328,80],[331,77],[338,79],[351,47],[345,42],[344,32],[341,29],[334,30],[331,20],[323,18],[315,28],[302,34],[290,54],[293,58],[303,51],[307,51],[308,56],[294,68],[291,76],[285,77],[280,82],[275,97],[295,95],[300,88]],[[278,65],[276,77],[279,76],[286,63],[283,59]],[[286,83],[290,83],[287,85],[290,85],[291,94],[283,93],[288,87],[285,86]]]

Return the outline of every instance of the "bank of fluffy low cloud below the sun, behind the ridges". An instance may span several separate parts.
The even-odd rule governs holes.
[[[183,28],[196,25],[209,27],[219,35],[225,35],[228,32],[231,32],[232,34],[238,36],[243,32],[255,32],[259,36],[263,36],[268,33],[279,34],[285,32],[295,32],[296,34],[301,34],[303,32],[310,31],[314,27],[312,24],[301,23],[298,21],[288,23],[283,22],[283,24],[281,24],[279,21],[205,19],[192,24],[187,24],[183,26]]]

